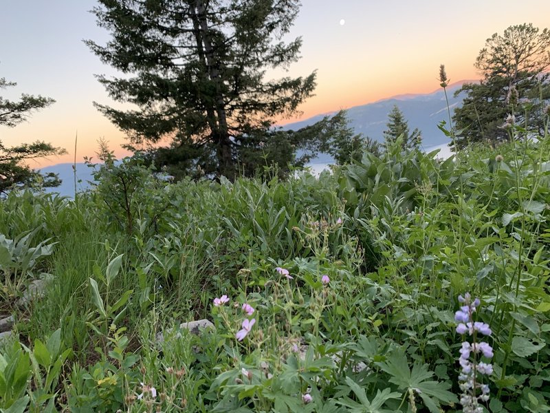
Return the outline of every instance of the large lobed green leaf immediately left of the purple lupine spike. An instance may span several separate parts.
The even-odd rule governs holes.
[[[458,399],[448,391],[449,383],[439,383],[430,379],[434,372],[428,370],[428,365],[415,363],[412,370],[408,367],[404,350],[397,350],[385,363],[376,363],[384,372],[390,374],[390,383],[396,384],[400,390],[419,394],[428,410],[432,413],[440,411],[439,402],[457,403]]]

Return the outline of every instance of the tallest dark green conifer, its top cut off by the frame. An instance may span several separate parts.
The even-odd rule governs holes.
[[[274,118],[296,114],[311,96],[316,76],[269,80],[267,70],[298,60],[301,39],[282,39],[296,19],[299,1],[99,3],[93,12],[112,38],[106,45],[86,43],[124,74],[98,76],[99,81],[114,100],[137,109],[94,104],[126,132],[127,147],[149,149],[179,173],[201,167],[228,178],[236,176],[247,154],[261,153],[250,147],[258,149],[254,142],[265,136],[292,149],[276,153],[277,162],[292,160],[299,145],[289,146],[289,136],[272,133],[270,126]]]

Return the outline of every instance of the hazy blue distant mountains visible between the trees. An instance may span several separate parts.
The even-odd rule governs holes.
[[[463,96],[454,97],[454,92],[466,82],[475,81],[460,81],[453,83],[447,89],[449,106],[451,114],[454,107],[461,105]],[[437,127],[441,120],[448,122],[447,103],[443,89],[438,89],[435,92],[428,94],[401,94],[391,98],[377,100],[377,102],[367,103],[366,105],[354,106],[347,109],[349,126],[355,129],[356,133],[361,133],[364,136],[369,136],[372,139],[382,142],[384,140],[384,130],[388,123],[388,114],[397,105],[399,110],[403,112],[408,125],[412,131],[416,127],[422,132],[422,146],[426,151],[432,149],[441,149],[441,156],[449,156],[447,138]],[[336,112],[328,114],[320,114],[311,118],[300,120],[300,122],[290,123],[283,126],[284,130],[300,129],[309,125],[313,125],[325,116],[331,116]],[[317,158],[311,160],[309,166],[315,171],[322,171],[327,165],[333,163],[333,159],[326,153],[320,153]],[[63,181],[60,187],[50,188],[48,192],[58,192],[61,195],[74,195],[74,172],[73,164],[63,163],[53,165],[51,167],[42,168],[43,173],[54,172],[58,173],[59,178]],[[91,168],[84,163],[76,164],[76,189],[77,191],[85,191],[89,189],[90,181],[94,178],[91,176]]]

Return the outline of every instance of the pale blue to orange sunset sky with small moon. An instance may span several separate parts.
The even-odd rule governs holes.
[[[454,6],[452,6],[454,4]],[[45,140],[69,154],[36,164],[94,156],[98,138],[124,155],[124,135],[92,105],[112,104],[94,74],[115,74],[83,43],[104,44],[109,35],[88,11],[94,0],[1,0],[0,78],[21,93],[50,96],[56,103],[14,128],[0,126],[5,146]],[[302,118],[370,103],[396,94],[439,87],[439,65],[451,81],[478,78],[473,63],[485,39],[510,25],[549,27],[550,1],[303,0],[292,36],[302,36],[302,59],[288,75],[318,70],[316,96],[300,107]],[[117,105],[116,103],[114,105]]]

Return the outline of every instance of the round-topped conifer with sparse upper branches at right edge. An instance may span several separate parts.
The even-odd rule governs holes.
[[[456,144],[509,138],[503,127],[507,118],[543,133],[542,112],[550,98],[550,31],[532,24],[514,25],[493,34],[479,52],[475,67],[480,83],[465,83],[455,95],[465,93],[454,110]],[[542,98],[542,99],[541,99]]]

